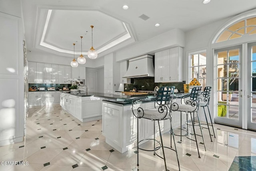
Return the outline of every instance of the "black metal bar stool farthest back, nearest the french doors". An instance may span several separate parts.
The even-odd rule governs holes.
[[[208,123],[208,119],[207,119],[206,112],[205,112],[205,109],[204,109],[206,124],[202,124],[202,125],[207,125],[206,129],[209,130],[209,134],[210,134],[210,138],[211,138],[211,142],[212,142],[212,135],[211,135],[209,126],[212,126],[212,131],[213,131],[214,138],[216,138],[216,137],[215,137],[214,128],[213,128],[213,125],[212,125],[212,117],[211,117],[210,110],[209,110],[211,91],[212,91],[212,87],[210,87],[210,86],[204,87],[204,91],[201,93],[202,98],[200,97],[199,106],[203,107],[203,109],[204,109],[204,107],[208,108],[208,114],[209,114],[211,123]]]

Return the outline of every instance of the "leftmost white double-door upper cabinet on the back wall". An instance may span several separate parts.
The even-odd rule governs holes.
[[[28,83],[44,83],[44,64],[28,62]]]

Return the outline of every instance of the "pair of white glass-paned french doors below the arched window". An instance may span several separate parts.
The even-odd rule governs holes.
[[[256,130],[256,42],[217,49],[216,123]]]

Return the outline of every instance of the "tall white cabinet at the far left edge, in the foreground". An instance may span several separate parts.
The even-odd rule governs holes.
[[[13,0],[3,5],[4,11],[0,8],[0,146],[21,142],[24,136],[23,24],[21,14],[16,15],[20,3]]]

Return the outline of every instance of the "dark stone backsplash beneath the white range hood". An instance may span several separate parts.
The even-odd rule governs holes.
[[[184,92],[183,84],[186,84],[185,81],[175,83],[155,83],[154,81],[154,78],[134,79],[133,84],[124,84],[124,91],[130,91],[133,89],[133,87],[136,87],[137,90],[154,91],[154,88],[156,86],[175,86],[175,88],[178,89],[179,92]]]

